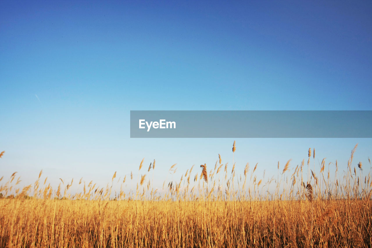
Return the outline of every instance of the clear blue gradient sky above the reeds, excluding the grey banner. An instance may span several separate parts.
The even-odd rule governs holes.
[[[130,110],[372,110],[371,13],[371,1],[0,1],[0,177],[43,169],[103,187],[145,158],[162,184],[174,163],[231,164],[234,139],[130,139]],[[346,168],[356,143],[369,168],[371,139],[237,139],[235,161],[267,177],[315,147]]]

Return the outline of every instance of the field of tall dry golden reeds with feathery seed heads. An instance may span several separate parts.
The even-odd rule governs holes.
[[[82,179],[52,188],[42,172],[17,188],[15,172],[0,188],[0,247],[371,247],[371,170],[353,166],[356,147],[341,174],[337,161],[315,169],[315,149],[307,164],[278,162],[267,182],[257,164],[240,175],[219,156],[161,190],[153,187],[155,160],[148,168],[141,161],[137,182],[132,172],[121,179],[119,193],[116,172],[106,188]],[[126,180],[133,189],[123,188]],[[74,183],[81,192],[72,193]]]

